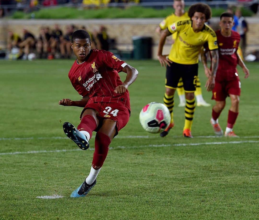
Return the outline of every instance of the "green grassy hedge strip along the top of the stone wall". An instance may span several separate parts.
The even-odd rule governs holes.
[[[188,10],[186,8],[186,10]],[[15,12],[13,19],[91,19],[91,18],[163,18],[172,13],[173,9],[143,8],[133,6],[127,9],[120,8],[102,8],[102,9],[77,9],[77,8],[45,8],[33,13]],[[212,16],[219,17],[224,8],[212,8]],[[248,9],[242,9],[243,16],[252,16],[253,12]]]

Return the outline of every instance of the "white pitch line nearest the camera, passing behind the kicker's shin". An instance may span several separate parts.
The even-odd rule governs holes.
[[[199,146],[199,145],[212,145],[212,144],[242,144],[242,143],[259,143],[259,141],[224,141],[224,142],[204,142],[204,143],[189,143],[189,144],[149,144],[140,146],[117,146],[110,147],[109,149],[132,149],[132,148],[146,148],[146,147],[169,147],[169,146]],[[88,150],[94,150],[94,148],[89,148]],[[53,152],[71,152],[71,151],[81,151],[81,149],[63,149],[63,150],[39,150],[39,151],[17,151],[17,152],[6,152],[0,153],[0,155],[14,155],[14,154],[28,154],[28,153],[53,153]]]

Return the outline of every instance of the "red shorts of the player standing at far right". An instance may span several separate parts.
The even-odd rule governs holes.
[[[229,94],[240,96],[241,83],[237,77],[231,81],[215,82],[215,87],[212,90],[212,98],[216,101],[225,101]]]

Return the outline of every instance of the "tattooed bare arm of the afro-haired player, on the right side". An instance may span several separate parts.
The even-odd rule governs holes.
[[[208,77],[208,80],[205,84],[207,91],[211,91],[215,86],[215,77],[219,64],[219,51],[218,50],[210,50],[211,53],[211,75]]]

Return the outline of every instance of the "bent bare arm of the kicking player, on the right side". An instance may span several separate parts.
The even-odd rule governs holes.
[[[139,72],[131,65],[126,65],[123,69],[123,72],[127,74],[125,81],[123,84],[117,86],[114,90],[115,93],[124,93],[128,89],[128,87],[136,80]]]

